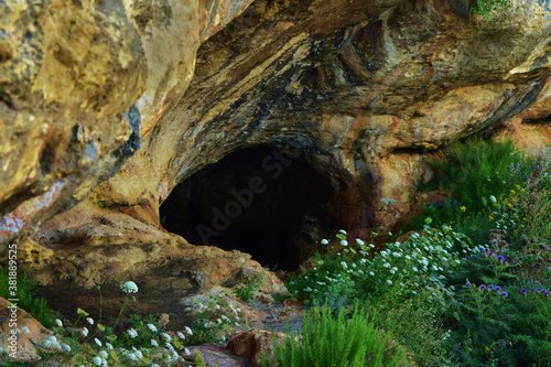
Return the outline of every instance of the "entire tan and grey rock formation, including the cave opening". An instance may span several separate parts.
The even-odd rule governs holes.
[[[188,241],[292,268],[338,228],[392,228],[449,140],[551,142],[549,2],[465,3],[4,2],[0,242],[104,181],[21,263],[73,294],[137,277],[177,299],[263,271]]]

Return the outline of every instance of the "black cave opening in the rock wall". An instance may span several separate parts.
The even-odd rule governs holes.
[[[246,148],[195,173],[161,205],[166,230],[194,245],[250,253],[296,270],[333,230],[335,192],[299,153]]]

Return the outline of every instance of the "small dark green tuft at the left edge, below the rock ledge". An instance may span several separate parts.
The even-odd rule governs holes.
[[[31,277],[23,272],[18,272],[17,296],[12,296],[9,291],[8,269],[0,269],[0,296],[4,299],[19,299],[18,306],[25,310],[36,319],[44,327],[54,325],[54,317],[47,310],[46,300],[36,296],[39,284],[31,280]]]

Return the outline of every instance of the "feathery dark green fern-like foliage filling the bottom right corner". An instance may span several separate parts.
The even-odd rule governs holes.
[[[456,321],[450,341],[454,358],[461,366],[483,366],[490,360],[499,366],[550,366],[548,291],[496,288],[469,284],[450,304],[447,313]]]

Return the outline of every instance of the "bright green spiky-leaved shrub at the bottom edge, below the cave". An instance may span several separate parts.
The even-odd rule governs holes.
[[[400,366],[406,350],[369,321],[365,309],[355,306],[349,319],[344,310],[333,317],[331,307],[305,312],[302,335],[287,335],[283,345],[274,342],[274,361],[262,366]]]

